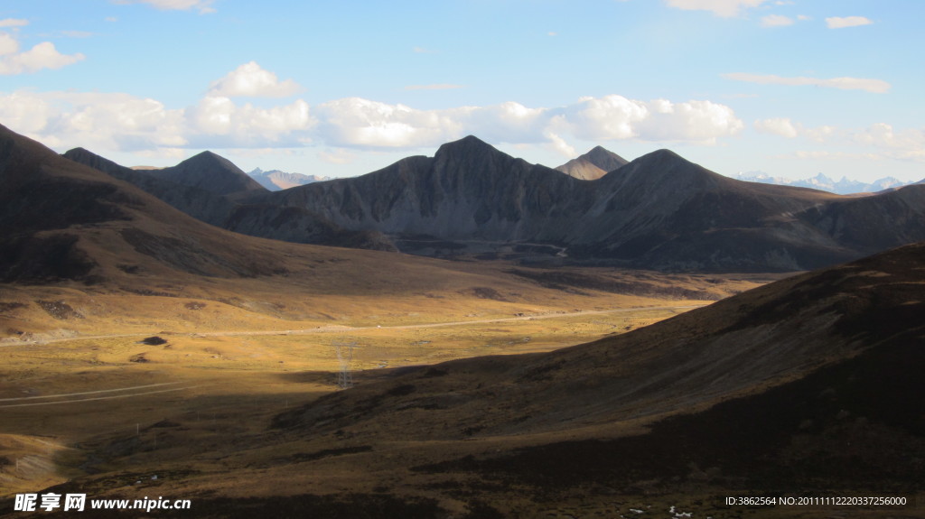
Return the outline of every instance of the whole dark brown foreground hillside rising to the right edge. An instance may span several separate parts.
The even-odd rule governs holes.
[[[534,512],[632,495],[719,508],[717,496],[765,492],[912,496],[925,469],[923,315],[918,244],[592,344],[419,368],[276,426],[369,446],[350,463],[371,466],[389,442],[416,441],[426,454],[380,477],[451,480],[443,495],[510,516],[515,494]]]

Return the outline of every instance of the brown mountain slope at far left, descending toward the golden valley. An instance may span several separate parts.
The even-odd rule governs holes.
[[[195,220],[5,127],[0,172],[3,281],[95,284],[127,272],[286,271],[283,254],[265,244]]]

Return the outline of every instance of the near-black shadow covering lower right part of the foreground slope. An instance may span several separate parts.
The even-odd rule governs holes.
[[[919,308],[921,309],[921,308]],[[634,492],[690,484],[769,491],[919,489],[925,470],[921,333],[767,392],[672,416],[644,435],[552,443],[416,467],[507,485]]]

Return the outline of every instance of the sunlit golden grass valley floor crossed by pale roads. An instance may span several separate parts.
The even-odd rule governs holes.
[[[0,495],[41,489],[91,467],[134,474],[176,468],[194,456],[197,470],[221,470],[209,460],[238,455],[246,439],[265,435],[273,416],[338,390],[337,343],[354,344],[351,373],[364,383],[391,368],[581,344],[709,303],[658,297],[658,290],[637,296],[549,288],[507,273],[511,266],[503,263],[402,258],[386,269],[388,281],[364,280],[349,276],[355,263],[395,256],[342,254],[351,263],[347,272],[333,261],[325,265],[337,268],[320,278],[3,287],[0,459],[7,463],[0,466]],[[604,281],[639,275],[574,271]],[[642,274],[656,289],[680,284],[718,296],[765,281]],[[142,287],[161,293],[136,294]],[[166,344],[143,344],[149,336]],[[106,445],[116,446],[106,448],[111,459],[85,457]],[[297,448],[270,446],[239,461],[259,465]],[[406,455],[417,447],[396,449]],[[277,478],[267,481],[276,482],[266,491],[280,489]],[[189,478],[182,485],[196,486]]]

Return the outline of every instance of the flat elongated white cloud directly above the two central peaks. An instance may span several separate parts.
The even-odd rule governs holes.
[[[509,102],[445,110],[348,98],[319,104],[313,110],[321,139],[333,146],[355,148],[435,146],[473,134],[492,142],[544,144],[569,155],[573,150],[566,136],[712,144],[743,127],[733,110],[722,104],[646,103],[619,95],[581,98],[556,108]]]

